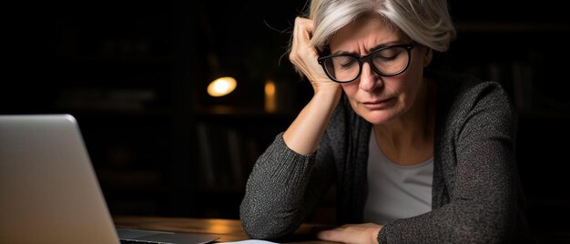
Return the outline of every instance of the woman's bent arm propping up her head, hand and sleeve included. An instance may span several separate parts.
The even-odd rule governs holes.
[[[250,238],[278,239],[297,229],[331,186],[334,165],[320,147],[325,127],[341,99],[341,86],[324,74],[310,46],[312,21],[297,18],[291,62],[309,79],[310,102],[290,127],[258,158],[240,205],[240,219]]]

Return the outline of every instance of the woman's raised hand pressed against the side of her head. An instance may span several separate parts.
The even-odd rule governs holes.
[[[297,17],[293,29],[293,38],[289,59],[310,81],[315,93],[320,89],[338,92],[341,86],[331,81],[317,61],[319,54],[310,45],[313,22],[308,18]]]

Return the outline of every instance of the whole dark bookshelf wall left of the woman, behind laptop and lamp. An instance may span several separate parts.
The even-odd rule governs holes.
[[[301,84],[279,59],[285,15],[303,4],[11,3],[0,113],[74,115],[114,214],[237,218],[251,158],[290,119],[264,112],[263,82]],[[221,102],[202,94],[211,54],[241,82]],[[295,107],[300,97],[289,94]]]

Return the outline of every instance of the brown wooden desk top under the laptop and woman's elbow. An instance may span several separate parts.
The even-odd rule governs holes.
[[[237,219],[115,216],[113,220],[117,228],[209,233],[219,236],[219,242],[249,239]],[[280,243],[331,243],[314,238],[314,230],[322,228],[326,228],[326,226],[303,224],[293,236]]]

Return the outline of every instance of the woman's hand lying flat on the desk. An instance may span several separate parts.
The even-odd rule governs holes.
[[[322,240],[341,243],[378,243],[378,232],[381,225],[351,224],[317,233],[317,237]]]

